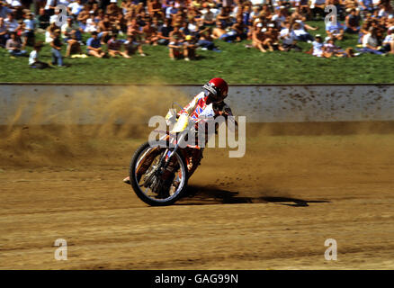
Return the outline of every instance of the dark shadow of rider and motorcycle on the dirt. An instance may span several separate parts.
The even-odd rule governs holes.
[[[262,192],[259,194],[269,194]],[[324,200],[302,200],[281,196],[241,196],[239,192],[231,192],[216,187],[192,185],[178,205],[207,205],[207,204],[239,204],[239,203],[268,203],[273,202],[292,207],[308,207],[309,203],[327,203]]]

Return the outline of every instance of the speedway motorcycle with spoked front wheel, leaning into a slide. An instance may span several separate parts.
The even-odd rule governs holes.
[[[175,109],[168,111],[166,124],[173,129],[157,130],[164,135],[154,143],[147,141],[139,146],[130,161],[130,184],[140,200],[151,206],[166,206],[184,195],[196,168],[194,163],[194,169],[188,169],[192,155],[198,152],[202,156],[203,150],[198,144],[187,144],[187,140],[191,135],[198,139],[198,124],[213,120],[213,115],[210,104],[198,118],[187,115],[187,126],[179,127]]]

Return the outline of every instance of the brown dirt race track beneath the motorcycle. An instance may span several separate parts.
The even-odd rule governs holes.
[[[207,149],[189,197],[161,208],[121,183],[138,142],[0,164],[0,268],[394,268],[394,134],[259,135],[242,158]],[[54,259],[57,238],[67,261]]]

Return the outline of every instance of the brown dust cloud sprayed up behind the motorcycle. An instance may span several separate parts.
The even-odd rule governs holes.
[[[35,101],[23,95],[7,125],[0,126],[0,163],[56,166],[94,157],[103,161],[119,143],[148,137],[151,116],[166,115],[174,102],[187,103],[190,95],[171,92],[163,94],[160,87],[150,86],[85,97],[80,91],[66,95],[61,107],[50,94]]]

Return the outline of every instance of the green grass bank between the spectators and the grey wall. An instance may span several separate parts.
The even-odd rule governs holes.
[[[323,22],[311,22],[326,35]],[[38,38],[43,40],[43,35]],[[37,70],[28,67],[28,58],[10,58],[0,49],[0,82],[92,83],[92,84],[194,84],[212,76],[221,76],[230,84],[324,84],[324,83],[394,83],[394,57],[363,54],[356,58],[316,58],[300,52],[267,52],[246,49],[249,41],[217,41],[221,52],[198,50],[199,60],[171,61],[163,46],[144,46],[148,57],[66,58],[70,67]],[[356,47],[357,35],[346,34],[337,41],[342,48]],[[310,44],[301,42],[304,51]],[[83,47],[85,51],[85,46]],[[31,51],[31,48],[28,48]],[[65,54],[63,49],[62,54]],[[41,53],[50,60],[49,45]]]

